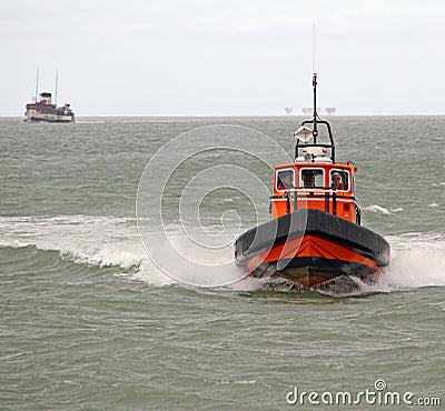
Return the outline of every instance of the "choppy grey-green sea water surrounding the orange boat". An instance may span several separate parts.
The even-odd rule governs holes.
[[[0,120],[1,407],[284,409],[295,387],[354,393],[377,379],[444,404],[445,118],[329,120],[338,160],[359,169],[363,223],[392,245],[380,282],[349,295],[266,291],[250,280],[186,285],[159,270],[139,238],[139,180],[175,141],[160,152],[159,176],[162,163],[175,169],[160,206],[165,230],[178,249],[185,229],[197,234],[202,242],[181,254],[224,262],[221,282],[236,278],[233,228],[268,219],[263,160],[279,154],[240,126],[291,156],[295,118]],[[221,123],[237,127],[174,140]],[[225,134],[231,151],[211,146]],[[211,150],[175,163],[197,141]],[[187,189],[211,186],[209,170],[220,189],[196,204]],[[234,178],[243,170],[259,180]],[[149,197],[156,188],[142,189]],[[149,211],[142,220],[156,238]],[[209,238],[227,247],[215,251]],[[181,279],[184,257],[157,252]],[[202,267],[187,278],[210,275]]]

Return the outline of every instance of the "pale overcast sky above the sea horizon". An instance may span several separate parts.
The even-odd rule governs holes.
[[[11,0],[0,116],[53,91],[82,116],[445,114],[443,0]]]

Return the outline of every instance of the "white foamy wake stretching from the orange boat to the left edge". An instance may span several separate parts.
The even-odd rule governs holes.
[[[168,227],[172,239],[179,237],[180,225]],[[154,233],[156,238],[157,233]],[[196,262],[186,270],[185,259],[161,248],[156,257],[169,261],[167,275],[146,253],[137,230],[136,219],[111,215],[56,215],[56,217],[0,217],[0,247],[34,245],[40,250],[56,250],[63,259],[98,267],[118,265],[120,274],[130,275],[157,285],[180,281],[188,283],[225,284],[243,277],[233,263],[233,248],[227,248],[222,262],[215,268],[200,264],[199,253],[205,250],[187,250],[186,259]],[[176,280],[178,279],[178,280]]]

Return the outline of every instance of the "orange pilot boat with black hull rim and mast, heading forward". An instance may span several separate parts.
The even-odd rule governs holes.
[[[271,219],[238,237],[236,261],[253,277],[301,291],[354,278],[374,282],[389,262],[389,244],[360,225],[357,168],[335,161],[330,124],[316,111],[317,74],[313,88],[314,117],[295,132],[295,162],[275,167]]]

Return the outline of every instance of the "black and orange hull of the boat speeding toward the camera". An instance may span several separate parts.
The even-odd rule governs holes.
[[[298,210],[246,231],[235,243],[237,263],[251,277],[280,278],[297,290],[333,279],[374,282],[389,262],[386,240],[319,210]]]

